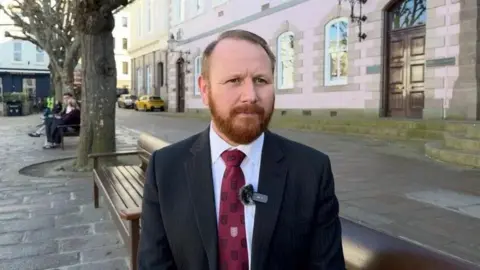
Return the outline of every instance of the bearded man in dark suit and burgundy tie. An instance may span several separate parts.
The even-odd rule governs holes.
[[[345,269],[328,156],[267,130],[274,67],[251,32],[205,49],[198,84],[212,122],[152,155],[139,269]],[[254,204],[239,200],[246,184]]]

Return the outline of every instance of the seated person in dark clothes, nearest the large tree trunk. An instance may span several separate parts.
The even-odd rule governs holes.
[[[46,119],[47,120],[47,119]],[[53,118],[46,122],[47,144],[43,147],[51,149],[57,147],[61,142],[61,134],[58,128],[59,125],[79,125],[80,124],[80,108],[77,101],[70,98],[67,101],[67,107],[63,114],[56,114]]]

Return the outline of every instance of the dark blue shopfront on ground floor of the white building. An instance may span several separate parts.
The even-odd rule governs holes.
[[[33,97],[50,95],[50,74],[48,70],[0,70],[0,87],[3,93],[31,93]]]

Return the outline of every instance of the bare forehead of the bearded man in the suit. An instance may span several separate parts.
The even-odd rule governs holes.
[[[267,52],[257,44],[245,40],[225,39],[220,41],[210,56],[210,67],[215,72],[250,72],[271,70]]]

